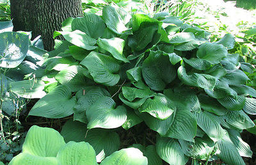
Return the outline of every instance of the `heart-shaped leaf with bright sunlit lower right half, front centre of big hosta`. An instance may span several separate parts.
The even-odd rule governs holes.
[[[99,98],[86,111],[88,118],[88,129],[104,128],[114,129],[124,124],[127,114],[124,106],[117,106],[110,97]]]

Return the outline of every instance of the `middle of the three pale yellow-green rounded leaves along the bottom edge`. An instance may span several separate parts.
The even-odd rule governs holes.
[[[76,143],[68,142],[60,149],[57,155],[60,164],[97,164],[93,147],[84,141]]]

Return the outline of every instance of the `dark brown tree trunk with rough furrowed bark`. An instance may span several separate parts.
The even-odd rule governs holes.
[[[52,51],[54,31],[68,17],[83,15],[81,0],[10,0],[13,31],[32,31],[42,36],[44,48]]]

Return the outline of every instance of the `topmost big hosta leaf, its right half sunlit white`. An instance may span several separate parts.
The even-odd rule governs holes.
[[[131,15],[117,6],[105,6],[102,10],[102,19],[111,31],[118,35],[127,31],[125,26],[131,19]]]

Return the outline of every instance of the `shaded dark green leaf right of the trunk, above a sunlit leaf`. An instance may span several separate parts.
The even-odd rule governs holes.
[[[72,31],[80,30],[92,38],[99,38],[103,35],[106,28],[103,20],[94,13],[84,13],[84,17],[77,17],[72,20]]]

